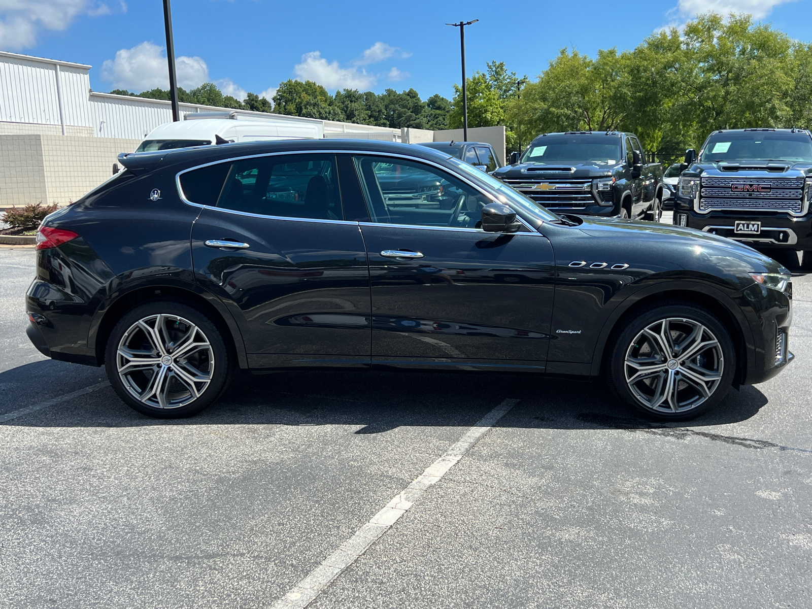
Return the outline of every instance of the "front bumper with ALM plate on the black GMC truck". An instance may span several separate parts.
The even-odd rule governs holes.
[[[761,222],[758,234],[735,232],[736,221]],[[711,211],[698,214],[691,202],[675,200],[672,222],[677,226],[696,228],[753,248],[787,248],[812,250],[812,214],[794,217],[790,214],[765,212]]]

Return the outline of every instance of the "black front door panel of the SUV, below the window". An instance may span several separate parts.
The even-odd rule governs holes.
[[[555,272],[545,237],[371,223],[361,231],[374,364],[546,360]],[[423,256],[381,254],[399,249]]]

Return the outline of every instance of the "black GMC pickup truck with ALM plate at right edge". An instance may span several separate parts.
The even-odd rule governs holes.
[[[685,153],[673,222],[812,268],[812,133],[724,129]]]

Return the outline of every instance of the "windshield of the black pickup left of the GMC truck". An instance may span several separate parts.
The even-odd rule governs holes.
[[[620,155],[620,137],[544,136],[533,141],[520,162],[560,165],[569,163],[607,163],[614,165]]]

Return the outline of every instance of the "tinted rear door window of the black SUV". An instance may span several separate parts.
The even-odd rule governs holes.
[[[218,207],[283,218],[343,219],[335,157],[296,154],[237,161]]]

